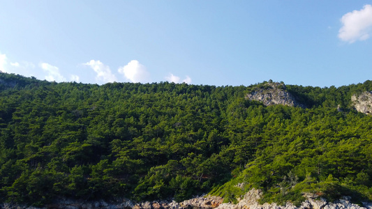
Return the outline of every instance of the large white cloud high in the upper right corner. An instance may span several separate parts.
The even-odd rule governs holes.
[[[347,42],[366,40],[372,33],[372,6],[367,4],[361,10],[354,10],[341,17],[343,26],[338,38]]]

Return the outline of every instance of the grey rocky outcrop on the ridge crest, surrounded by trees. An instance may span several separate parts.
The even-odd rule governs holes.
[[[266,106],[283,104],[290,107],[304,107],[304,105],[296,102],[293,95],[287,91],[285,84],[277,82],[263,84],[263,86],[256,88],[251,93],[248,93],[246,95],[246,99],[263,102]]]

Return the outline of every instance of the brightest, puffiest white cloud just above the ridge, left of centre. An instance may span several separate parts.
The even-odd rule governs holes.
[[[123,74],[126,79],[130,80],[133,83],[150,82],[150,73],[146,70],[146,67],[139,61],[130,61],[127,65],[119,68],[117,71]]]

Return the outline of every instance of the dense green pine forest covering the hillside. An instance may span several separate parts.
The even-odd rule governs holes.
[[[372,82],[286,85],[304,104],[247,100],[251,86],[56,83],[0,73],[0,202],[137,201],[213,194],[372,199]]]

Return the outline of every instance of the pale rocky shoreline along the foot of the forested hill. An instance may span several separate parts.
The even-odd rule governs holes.
[[[66,209],[93,209],[93,208],[109,208],[109,209],[372,209],[372,203],[363,203],[363,206],[358,206],[350,202],[350,198],[344,197],[335,202],[327,202],[325,199],[308,198],[301,206],[294,206],[292,203],[287,203],[285,206],[278,206],[276,203],[265,203],[260,205],[258,199],[262,192],[258,189],[252,189],[240,199],[237,204],[223,203],[223,199],[218,196],[200,196],[194,199],[189,199],[177,203],[176,201],[146,201],[136,203],[128,199],[117,201],[117,203],[107,203],[105,201],[72,201],[61,200],[57,203],[49,204],[43,207],[47,208],[66,208]],[[0,208],[4,209],[40,209],[36,207],[13,205],[3,203]]]

